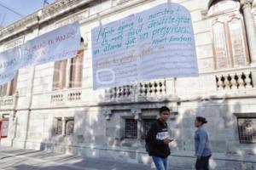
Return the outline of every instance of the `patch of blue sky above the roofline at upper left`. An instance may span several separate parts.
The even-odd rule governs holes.
[[[47,1],[49,3],[53,3],[55,0]],[[15,12],[17,12],[18,14],[11,12],[3,6],[15,10]],[[32,14],[33,12],[36,12],[39,8],[43,7],[44,0],[0,0],[0,26],[9,26],[16,20],[20,20],[26,15]]]

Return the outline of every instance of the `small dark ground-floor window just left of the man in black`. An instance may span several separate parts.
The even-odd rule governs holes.
[[[125,119],[125,138],[137,138],[137,120]]]

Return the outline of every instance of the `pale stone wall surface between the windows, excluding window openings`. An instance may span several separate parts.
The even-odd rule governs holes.
[[[205,116],[209,122],[206,127],[214,153],[211,160],[212,169],[255,169],[256,145],[239,143],[236,113],[246,115],[256,112],[256,91],[253,87],[218,89],[216,82],[219,75],[225,77],[237,71],[240,74],[253,71],[255,67],[249,65],[246,68],[214,71],[211,26],[206,14],[208,0],[172,0],[172,3],[182,4],[191,13],[200,77],[166,79],[166,94],[157,94],[153,97],[139,94],[136,86],[133,87],[134,94],[129,98],[121,96],[109,99],[109,89],[92,90],[90,30],[99,26],[96,14],[100,13],[102,24],[107,24],[133,14],[134,11],[140,12],[160,3],[166,3],[166,0],[108,0],[90,3],[83,8],[76,8],[75,14],[70,12],[62,18],[54,18],[52,15],[53,19],[49,20],[48,25],[44,24],[39,30],[33,28],[32,31],[26,31],[24,41],[79,20],[81,35],[86,44],[83,86],[78,89],[52,91],[54,63],[38,65],[35,69],[20,69],[18,98],[12,105],[0,105],[0,114],[8,113],[10,117],[9,138],[1,139],[1,144],[152,164],[145,152],[143,139],[124,138],[124,119],[137,116],[156,117],[160,106],[168,105],[172,108],[173,114],[168,123],[175,138],[171,145],[172,167],[193,169],[194,120],[195,116]],[[61,8],[63,11],[66,10],[65,6]],[[20,35],[16,37],[17,41],[20,41]],[[0,49],[9,47],[8,43],[9,46],[14,44],[4,42]],[[79,95],[79,98],[67,100],[68,94]],[[61,102],[58,100],[60,96],[63,96]],[[138,113],[140,115],[137,115]],[[73,135],[55,135],[56,117],[64,122],[68,117],[74,118]]]

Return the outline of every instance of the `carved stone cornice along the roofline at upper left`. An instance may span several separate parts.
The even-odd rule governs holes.
[[[101,14],[102,16],[107,16],[108,14],[112,14],[115,11],[121,11],[133,5],[138,5],[145,2],[149,3],[153,1],[155,0],[113,0],[111,8],[109,8],[109,10],[102,11]],[[88,8],[90,6],[90,3],[96,3],[96,1],[58,0],[55,3],[47,6],[46,8],[42,8],[38,10],[38,12],[31,14],[24,19],[17,21],[14,24],[0,30],[0,45],[3,44],[3,42],[8,42],[10,39],[24,35],[27,31],[32,31],[32,28],[34,26],[38,26],[39,29],[42,29],[42,27],[46,26],[45,24],[49,25],[49,22],[62,20],[66,17],[68,18],[69,15],[76,15],[84,8]],[[26,18],[28,17],[36,21],[33,23],[26,21]],[[90,22],[91,20],[96,19],[96,15],[93,14],[89,15],[88,19],[85,20],[86,22]],[[83,23],[84,21],[79,20],[79,22],[81,23]]]

